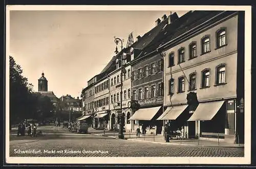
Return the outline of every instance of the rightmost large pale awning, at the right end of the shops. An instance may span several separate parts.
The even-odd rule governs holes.
[[[196,111],[188,121],[211,120],[220,110],[225,101],[199,103]]]

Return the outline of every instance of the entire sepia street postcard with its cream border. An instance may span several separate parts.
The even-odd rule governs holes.
[[[250,10],[7,6],[6,162],[249,164]]]

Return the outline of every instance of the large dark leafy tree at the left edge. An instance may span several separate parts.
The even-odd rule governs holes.
[[[10,56],[10,130],[12,124],[17,124],[30,116],[33,85],[22,76],[22,67],[16,64]]]

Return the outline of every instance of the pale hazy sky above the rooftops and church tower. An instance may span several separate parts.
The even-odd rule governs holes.
[[[172,11],[182,16],[188,11]],[[87,82],[114,56],[114,36],[134,41],[170,11],[10,11],[10,55],[38,91],[44,72],[48,91],[80,97]],[[120,51],[120,45],[118,50]]]

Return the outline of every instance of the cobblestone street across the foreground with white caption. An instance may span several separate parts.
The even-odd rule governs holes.
[[[244,148],[187,147],[119,140],[58,129],[57,135],[10,136],[10,157],[243,157]],[[56,131],[56,130],[55,130]],[[43,131],[44,133],[44,131]],[[34,152],[22,152],[30,150]],[[46,152],[48,150],[48,152]],[[65,152],[66,150],[66,152]],[[55,152],[54,152],[55,151]],[[57,152],[59,151],[59,152]],[[63,151],[63,152],[62,152]],[[70,152],[69,152],[70,151]],[[73,151],[73,152],[72,152]],[[91,151],[91,152],[86,152]],[[98,151],[98,152],[93,152]]]

